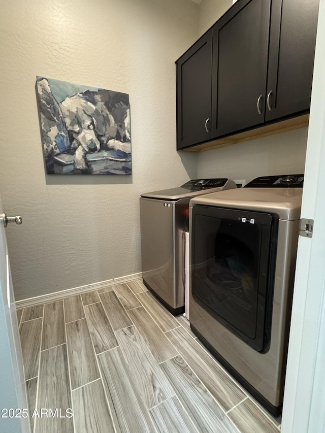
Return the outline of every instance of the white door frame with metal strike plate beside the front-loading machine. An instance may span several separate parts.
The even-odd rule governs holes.
[[[313,237],[299,237],[281,431],[314,433],[325,425],[325,0],[320,0],[302,218]]]

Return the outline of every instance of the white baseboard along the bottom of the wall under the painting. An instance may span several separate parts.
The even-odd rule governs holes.
[[[28,299],[21,299],[21,301],[16,301],[16,308],[26,308],[32,307],[37,304],[45,304],[53,301],[57,301],[64,296],[77,295],[84,292],[89,292],[90,290],[99,290],[105,287],[116,286],[117,284],[127,283],[128,281],[138,280],[142,278],[142,272],[137,274],[126,275],[125,277],[112,278],[111,280],[100,281],[99,283],[91,283],[86,286],[73,287],[72,289],[60,290],[58,292],[46,293],[44,295],[29,297]]]

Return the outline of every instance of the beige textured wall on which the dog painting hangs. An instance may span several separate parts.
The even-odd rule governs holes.
[[[16,299],[141,271],[139,196],[196,177],[176,152],[174,61],[188,0],[15,0],[0,15],[0,193]],[[133,176],[46,176],[36,75],[129,94]]]

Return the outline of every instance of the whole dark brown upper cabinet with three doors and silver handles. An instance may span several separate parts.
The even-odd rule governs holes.
[[[178,150],[308,113],[318,3],[238,0],[176,61]]]

